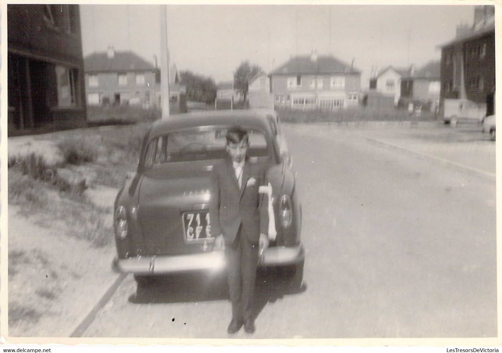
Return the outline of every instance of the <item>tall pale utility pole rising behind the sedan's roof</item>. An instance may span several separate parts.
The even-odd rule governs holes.
[[[167,49],[167,6],[160,6],[160,81],[162,119],[169,119],[169,51]]]

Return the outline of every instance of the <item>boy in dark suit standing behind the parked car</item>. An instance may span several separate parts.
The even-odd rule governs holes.
[[[232,320],[228,333],[242,325],[255,332],[253,295],[259,253],[269,246],[267,202],[258,193],[265,185],[266,166],[247,157],[249,136],[233,126],[226,133],[228,157],[214,165],[211,174],[209,214],[211,233],[217,235],[215,248],[225,248]]]

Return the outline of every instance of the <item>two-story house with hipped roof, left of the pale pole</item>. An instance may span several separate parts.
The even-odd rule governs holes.
[[[155,67],[133,52],[92,53],[84,58],[88,105],[145,105],[155,103],[160,85]]]

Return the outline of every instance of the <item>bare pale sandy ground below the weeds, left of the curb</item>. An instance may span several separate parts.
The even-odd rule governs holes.
[[[33,224],[9,206],[10,336],[69,336],[116,278],[112,244],[96,248],[66,232]]]

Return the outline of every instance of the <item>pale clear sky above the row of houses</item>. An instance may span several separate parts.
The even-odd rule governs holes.
[[[163,6],[81,5],[84,56],[111,45],[151,63],[155,55],[160,65]],[[354,59],[364,88],[372,68],[439,60],[437,46],[455,37],[456,25],[472,25],[474,18],[472,5],[166,6],[170,63],[216,83],[233,80],[244,60],[268,73],[315,50],[349,64]]]

